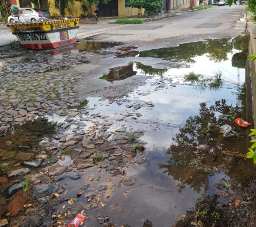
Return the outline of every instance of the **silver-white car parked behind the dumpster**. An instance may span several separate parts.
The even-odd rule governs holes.
[[[39,18],[48,18],[51,19],[49,17],[49,13],[48,12],[44,12],[41,9],[36,9],[36,8],[24,8],[22,14],[21,14],[24,19],[28,22],[36,22],[39,20]],[[16,16],[9,16],[8,17],[8,22],[9,23],[14,23],[15,21],[18,21],[18,17]]]

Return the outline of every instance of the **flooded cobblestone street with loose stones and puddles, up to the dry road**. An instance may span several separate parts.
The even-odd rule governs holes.
[[[1,59],[0,213],[9,226],[66,226],[82,212],[82,226],[168,227],[203,194],[248,203],[256,167],[244,158],[253,117],[246,57],[235,61],[248,51],[237,49],[240,38],[152,50],[91,39]],[[91,68],[98,87],[87,92],[84,68],[108,59]],[[225,124],[232,137],[220,133]],[[225,220],[205,226],[235,226]]]

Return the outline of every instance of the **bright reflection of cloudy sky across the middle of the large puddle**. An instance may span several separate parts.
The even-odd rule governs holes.
[[[194,191],[190,185],[186,185],[179,191],[179,181],[174,180],[170,175],[163,174],[163,170],[160,170],[158,165],[168,163],[170,156],[166,156],[165,153],[173,142],[172,137],[179,133],[179,127],[186,124],[189,116],[198,114],[200,102],[206,102],[207,106],[210,106],[215,101],[226,99],[228,105],[236,104],[234,83],[237,81],[237,68],[231,66],[232,55],[229,53],[228,60],[216,63],[205,54],[195,57],[196,62],[189,68],[170,68],[163,77],[151,76],[145,85],[139,86],[128,94],[127,99],[131,102],[125,101],[122,105],[115,102],[108,103],[108,100],[99,101],[95,97],[88,98],[88,107],[95,107],[92,113],[101,113],[112,119],[114,124],[110,130],[123,125],[127,127],[127,131],[130,129],[145,130],[142,139],[147,142],[145,146],[149,163],[125,170],[128,176],[136,179],[136,183],[133,186],[118,187],[115,196],[107,204],[108,207],[102,209],[111,221],[120,225],[129,223],[131,226],[142,226],[142,219],[150,219],[153,226],[167,227],[178,219],[180,213],[185,213],[193,206],[198,192]],[[135,71],[138,71],[135,76],[143,74],[140,69],[136,68],[136,63],[133,67]],[[208,77],[213,76],[213,72],[218,69],[222,70],[223,77],[225,77],[225,83],[220,89],[206,88],[201,91],[198,86],[188,85],[184,81],[184,74],[191,71]],[[242,84],[245,77],[244,69],[239,71],[240,84]],[[173,80],[171,81],[170,78]],[[164,87],[155,90],[158,87],[157,82],[162,83]],[[171,86],[173,82],[178,82],[178,84],[173,87]],[[140,101],[152,101],[154,107],[142,107],[135,111],[143,115],[137,120],[125,117],[124,115],[129,111],[132,112],[132,109],[128,109],[126,105]],[[89,118],[93,120],[92,117]],[[123,118],[123,121],[116,121],[120,118]],[[224,177],[226,176],[223,172],[209,176],[207,192],[215,193],[214,184],[219,183],[219,179]],[[199,193],[204,193],[204,188],[201,188]],[[118,208],[122,212],[117,212]],[[94,210],[88,211],[88,215],[95,215]]]

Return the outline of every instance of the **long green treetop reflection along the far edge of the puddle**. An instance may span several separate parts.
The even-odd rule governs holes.
[[[232,40],[223,38],[185,43],[172,48],[141,51],[139,57],[157,57],[183,63],[194,63],[194,57],[208,53],[207,57],[216,62],[220,62],[222,60],[227,60],[227,54],[232,53],[232,48]]]

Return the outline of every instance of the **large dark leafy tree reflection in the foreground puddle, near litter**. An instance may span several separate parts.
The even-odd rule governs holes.
[[[242,97],[243,95],[240,98]],[[244,152],[244,147],[246,147],[246,142],[242,137],[240,140],[237,138],[224,139],[223,134],[219,133],[219,129],[216,127],[224,124],[234,126],[227,116],[230,107],[232,106],[227,105],[224,99],[216,101],[215,105],[210,107],[207,107],[205,102],[200,103],[199,114],[194,117],[190,116],[186,121],[187,127],[180,129],[180,132],[172,138],[173,144],[166,152],[167,155],[171,155],[171,158],[168,164],[160,164],[159,168],[163,169],[164,173],[171,175],[174,180],[179,181],[180,192],[186,185],[191,185],[192,189],[197,192],[200,192],[202,188],[207,191],[209,189],[208,177],[214,174],[211,169],[213,166],[225,167],[224,172],[234,185],[246,174],[240,171],[244,160],[236,160],[235,163],[232,163],[234,160],[226,162],[225,156],[221,154],[221,151],[224,150]],[[242,107],[244,106],[242,105]],[[242,117],[243,111],[243,108],[238,108],[237,116]],[[218,118],[215,115],[216,112],[218,112]],[[207,125],[210,125],[211,131],[208,136],[205,136],[202,131],[207,128]],[[246,131],[241,128],[237,127],[236,130],[241,135],[246,134]],[[196,148],[198,144],[208,144],[211,150],[198,152]],[[191,165],[192,160],[197,159],[201,161],[201,164]]]

